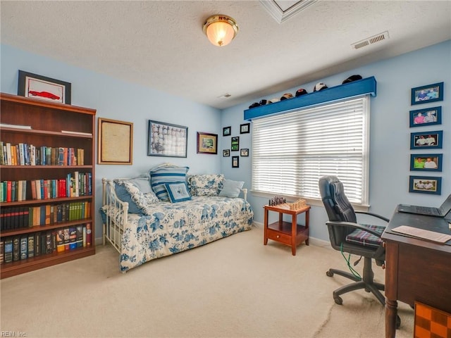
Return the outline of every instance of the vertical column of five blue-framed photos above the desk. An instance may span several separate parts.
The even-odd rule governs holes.
[[[438,101],[443,101],[443,82],[411,89],[410,103],[412,106]],[[410,149],[421,151],[410,154],[410,171],[425,171],[428,174],[442,172],[443,154],[437,152],[437,149],[443,149],[444,144],[443,130],[439,130],[440,127],[437,127],[441,124],[442,106],[433,104],[427,108],[409,111],[409,127],[419,127],[418,132],[415,130],[410,133]],[[409,176],[409,192],[441,194],[442,177],[418,174]]]

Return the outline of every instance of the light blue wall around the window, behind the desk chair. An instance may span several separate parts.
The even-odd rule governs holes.
[[[299,83],[299,86],[288,88],[283,92],[270,97],[256,97],[254,100],[225,109],[222,114],[222,125],[232,126],[232,136],[240,136],[240,146],[252,148],[251,135],[245,137],[239,134],[239,126],[245,123],[243,111],[252,102],[261,99],[280,97],[285,92],[294,94],[297,89],[307,89],[313,92],[316,82],[324,82],[328,87],[342,83],[353,74],[362,77],[376,77],[377,96],[371,98],[371,134],[370,134],[370,211],[386,215],[393,214],[395,206],[400,203],[420,204],[425,206],[439,206],[448,194],[451,193],[451,41],[436,44],[428,48],[390,58],[356,68],[350,72],[336,74],[315,82]],[[433,104],[410,105],[410,89],[426,84],[445,82],[444,101]],[[442,125],[429,127],[409,127],[409,111],[442,106]],[[423,151],[410,150],[410,133],[443,130],[443,149],[428,149]],[[230,137],[223,137],[223,144],[230,148]],[[411,172],[410,154],[438,153],[443,154],[443,172],[431,173]],[[252,149],[250,151],[252,156]],[[235,177],[251,185],[251,157],[240,158],[240,168],[231,168],[231,159],[222,158],[221,168],[228,177]],[[409,175],[439,176],[442,177],[442,194],[414,194],[409,193]],[[267,198],[252,196],[248,200],[254,208],[258,223],[263,223],[263,205],[268,203]],[[271,217],[271,213],[270,213]],[[328,233],[324,223],[326,212],[323,207],[313,206],[310,212],[310,235],[318,239],[328,240]],[[303,221],[300,217],[299,221]]]

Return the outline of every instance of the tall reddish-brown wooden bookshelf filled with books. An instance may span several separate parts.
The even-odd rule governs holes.
[[[0,94],[0,101],[0,141],[3,144],[0,151],[0,182],[18,182],[20,180],[26,182],[26,188],[21,189],[20,199],[18,199],[18,192],[15,192],[14,199],[7,198],[6,185],[2,187],[3,189],[0,189],[0,192],[3,190],[3,196],[0,199],[2,209],[0,253],[3,255],[0,277],[11,277],[94,255],[94,130],[96,111],[91,108],[58,104],[4,93]],[[8,156],[4,156],[6,144],[11,144],[10,149],[13,149],[13,146],[16,145],[20,145],[16,149],[23,149],[23,155],[20,151],[18,151],[19,155],[16,154],[19,158],[16,158],[15,163],[11,163],[8,161]],[[66,153],[64,153],[66,160],[69,158],[67,162],[58,163],[58,158],[53,157],[49,160],[49,155],[46,163],[43,163],[41,158],[36,159],[37,154],[33,156],[34,162],[32,162],[30,161],[32,157],[30,146],[39,149],[37,152],[41,157],[41,151],[46,148],[50,149],[47,150],[49,154],[51,151],[58,151],[56,149],[60,149],[60,152],[61,149],[68,149],[69,154],[71,154],[70,151],[75,150],[75,155],[72,156],[75,162],[70,161],[70,155],[66,156]],[[78,149],[82,149],[82,152],[77,152]],[[45,182],[47,189],[45,194],[42,194],[44,196],[37,199],[36,197],[33,198],[31,182],[39,180]],[[63,186],[60,186],[61,189],[59,189],[57,185],[59,181],[66,181],[69,187],[66,186],[63,189]],[[77,183],[76,189],[75,182]],[[54,184],[53,187],[51,183]],[[41,191],[44,192],[44,188],[41,188]],[[65,204],[72,206],[75,204],[74,202],[80,202],[80,205],[83,206],[82,209],[80,206],[78,213],[71,210],[70,215],[61,214],[63,215],[61,216],[59,214],[58,206]],[[46,206],[47,210],[50,209],[48,206],[51,206],[51,215],[46,215],[48,219],[36,218],[36,214],[46,209]],[[8,210],[13,212],[6,213]],[[23,213],[16,213],[19,214],[17,218],[11,217],[11,215],[15,215],[14,211],[18,210],[23,211]],[[57,210],[58,215],[56,215]],[[69,213],[69,209],[67,210]],[[25,220],[27,215],[30,218]],[[6,219],[8,220],[6,221]],[[78,233],[78,237],[74,241],[75,244],[71,242],[65,250],[61,251],[61,242],[57,241],[60,237],[56,237],[56,233],[58,230],[68,228],[72,230],[76,227],[83,230],[82,243],[80,244]],[[40,237],[44,235],[47,239],[50,238],[51,246],[42,248],[42,245],[39,244],[44,244],[44,241],[41,242],[41,239],[38,239],[39,244],[37,244],[33,240],[33,238],[38,238],[35,237],[37,234]],[[47,234],[51,234],[51,237]],[[6,262],[5,242],[8,242],[8,239],[17,239],[17,237],[29,238],[27,245],[30,246],[27,249],[30,249],[30,251],[27,251],[27,256],[23,256],[23,250],[22,256],[19,255],[16,261]],[[87,243],[87,239],[90,239],[90,243]],[[57,242],[60,244],[59,251],[56,249]],[[36,246],[39,246],[40,250],[37,256],[34,254]],[[31,250],[32,247],[34,250]],[[33,256],[28,256],[31,251],[33,251]],[[17,255],[15,257],[17,258]]]

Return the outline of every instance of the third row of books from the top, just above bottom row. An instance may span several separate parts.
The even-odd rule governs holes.
[[[44,206],[16,206],[0,209],[0,229],[14,230],[25,227],[53,225],[91,217],[91,202],[77,201]]]

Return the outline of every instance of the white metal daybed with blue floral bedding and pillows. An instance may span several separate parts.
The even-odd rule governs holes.
[[[121,271],[251,229],[244,182],[187,170],[160,165],[149,175],[102,179],[104,244],[119,251]]]

